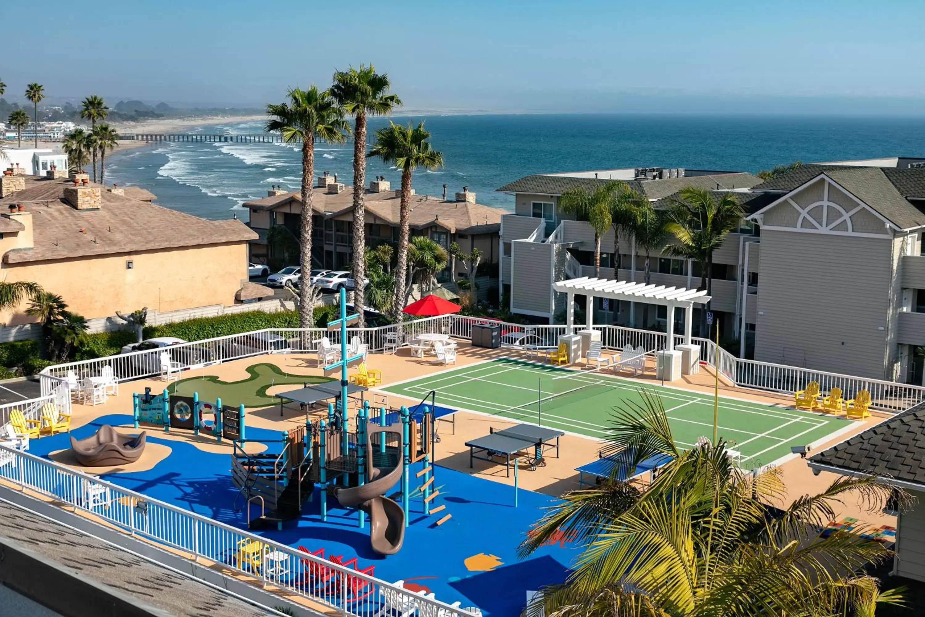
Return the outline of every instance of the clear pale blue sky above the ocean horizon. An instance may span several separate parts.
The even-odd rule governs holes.
[[[7,98],[264,105],[373,62],[415,110],[925,113],[922,2],[6,4]]]

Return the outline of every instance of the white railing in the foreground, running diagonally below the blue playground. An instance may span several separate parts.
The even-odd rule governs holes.
[[[357,617],[472,614],[28,452],[0,446],[0,480],[91,512],[133,536],[179,549],[174,554],[190,561],[221,563],[263,586],[323,605],[325,612]]]

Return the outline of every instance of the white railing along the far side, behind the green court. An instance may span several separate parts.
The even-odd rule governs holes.
[[[482,317],[442,315],[384,327],[348,328],[348,336],[351,339],[359,338],[360,342],[367,345],[369,352],[381,352],[392,335],[399,341],[406,341],[419,334],[431,332],[450,334],[457,339],[471,339],[473,325],[482,323],[500,323],[502,335],[529,332],[536,335],[536,339],[532,340],[544,347],[554,347],[559,336],[566,332],[565,326],[511,324]],[[660,351],[665,348],[667,341],[667,335],[664,332],[621,326],[595,326],[595,329],[600,331],[601,343],[605,349],[622,350],[625,345],[633,345],[649,351]],[[59,380],[66,378],[68,373],[79,379],[100,376],[105,365],[111,365],[120,380],[158,375],[160,354],[164,351],[170,354],[172,361],[178,362],[184,368],[190,368],[271,352],[311,351],[315,349],[322,337],[327,337],[335,344],[340,342],[339,332],[329,332],[324,328],[304,330],[269,328],[172,345],[166,350],[155,349],[57,364],[46,368],[40,376],[42,393],[43,395],[50,394],[53,389],[59,388]],[[682,336],[675,335],[676,345],[683,340]],[[819,381],[823,391],[837,387],[849,396],[854,395],[860,389],[868,389],[873,400],[871,407],[888,412],[903,411],[925,401],[925,388],[921,386],[839,375],[783,364],[742,360],[722,348],[717,354],[716,344],[708,339],[694,338],[693,341],[700,346],[700,361],[710,366],[719,366],[722,375],[736,386],[792,392],[796,389],[803,389],[809,381]]]

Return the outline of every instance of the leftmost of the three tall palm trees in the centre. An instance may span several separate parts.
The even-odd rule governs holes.
[[[293,88],[289,102],[266,105],[271,118],[267,132],[279,131],[287,143],[302,142],[302,222],[299,228],[300,264],[302,272],[312,269],[312,179],[314,177],[314,138],[327,142],[343,142],[350,124],[344,119],[343,108],[329,92],[319,91],[314,84],[308,90]],[[315,290],[303,287],[299,297],[300,327],[314,327],[312,311]]]

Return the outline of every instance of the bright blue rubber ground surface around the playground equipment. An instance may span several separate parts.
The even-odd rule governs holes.
[[[129,415],[107,415],[71,432],[85,438],[104,424],[130,426]],[[234,512],[238,494],[229,474],[228,453],[200,450],[191,443],[158,438],[159,429],[147,428],[148,441],[162,444],[170,455],[144,472],[107,474],[108,482],[138,491],[156,500],[197,512],[225,524],[246,528],[244,513]],[[173,429],[177,431],[178,429]],[[278,431],[247,427],[249,439],[276,439]],[[33,439],[32,454],[48,457],[50,452],[70,447],[67,434]],[[420,465],[420,463],[418,463]],[[418,465],[412,468],[412,477]],[[325,549],[325,555],[356,557],[358,566],[375,565],[374,575],[411,588],[426,589],[444,602],[457,600],[462,607],[476,606],[487,615],[516,615],[524,608],[527,590],[561,583],[578,548],[568,538],[537,550],[527,560],[518,560],[516,550],[543,508],[555,502],[540,493],[521,489],[519,506],[513,507],[513,488],[468,474],[439,467],[435,485],[452,518],[434,526],[435,516],[426,517],[420,495],[412,496],[410,526],[398,554],[376,555],[370,548],[369,528],[358,527],[356,511],[328,500],[328,520],[319,516],[320,491],[315,488],[299,521],[285,524],[281,531],[262,531],[265,537],[292,547]],[[396,486],[393,491],[398,491]],[[442,513],[442,512],[441,512]]]

